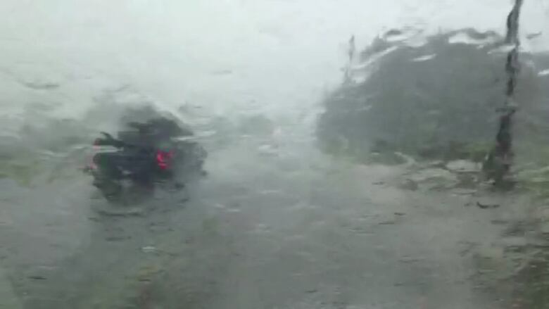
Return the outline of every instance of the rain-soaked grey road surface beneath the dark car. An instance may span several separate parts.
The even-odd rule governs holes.
[[[83,175],[14,185],[0,248],[19,305],[6,308],[502,308],[472,257],[500,241],[493,222],[511,206],[398,189],[403,167],[298,140],[244,139],[207,169],[188,196],[125,216],[89,198]]]

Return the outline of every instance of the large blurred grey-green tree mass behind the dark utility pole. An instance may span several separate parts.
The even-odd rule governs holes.
[[[395,34],[403,32],[391,30],[374,39],[361,53],[361,66],[353,70],[355,82],[344,82],[324,99],[317,125],[322,149],[352,156],[391,149],[460,158],[476,145],[493,143],[496,109],[505,99],[506,54],[498,51],[503,38],[467,29],[436,34],[412,46],[393,40]],[[549,59],[521,58],[537,63]],[[527,65],[519,79],[517,100],[524,115],[517,118],[541,123],[549,114],[543,102],[549,79]]]

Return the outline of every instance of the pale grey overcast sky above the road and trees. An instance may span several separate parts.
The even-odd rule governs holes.
[[[547,28],[549,1],[525,2],[523,32]],[[61,84],[47,96],[73,107],[104,87],[131,84],[166,104],[284,111],[314,103],[341,80],[351,34],[362,48],[391,27],[502,32],[510,7],[506,0],[2,0],[0,104],[46,96],[21,94],[6,81],[15,78]]]

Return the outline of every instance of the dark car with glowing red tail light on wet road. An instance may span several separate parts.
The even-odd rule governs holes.
[[[194,134],[168,118],[128,122],[115,138],[102,132],[98,151],[87,171],[94,186],[109,201],[125,191],[151,191],[158,184],[184,187],[189,174],[203,173],[206,151],[192,139]]]

